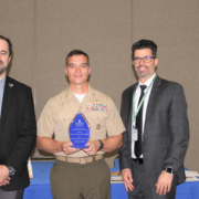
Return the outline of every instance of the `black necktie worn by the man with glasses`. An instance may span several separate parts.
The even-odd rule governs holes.
[[[142,93],[140,93],[140,97],[139,97],[139,102],[138,102],[138,105],[144,96],[144,91],[147,86],[146,85],[140,85],[140,90],[142,90]],[[143,103],[144,104],[144,103]],[[137,114],[137,117],[136,117],[136,128],[138,130],[138,139],[137,142],[135,142],[135,148],[134,148],[134,151],[135,151],[135,156],[137,158],[139,158],[139,156],[143,154],[143,149],[142,149],[142,129],[143,129],[143,104],[139,108],[139,112]]]

